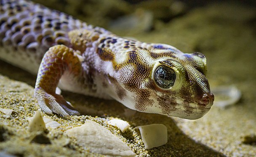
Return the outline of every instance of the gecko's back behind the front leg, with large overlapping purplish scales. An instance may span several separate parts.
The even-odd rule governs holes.
[[[0,58],[37,74],[45,52],[56,44],[72,46],[68,32],[79,28],[108,32],[31,1],[1,0]]]

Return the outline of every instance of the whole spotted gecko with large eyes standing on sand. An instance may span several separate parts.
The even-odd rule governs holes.
[[[214,101],[203,54],[123,38],[28,0],[0,0],[0,59],[37,75],[47,114],[80,115],[56,88],[187,119]]]

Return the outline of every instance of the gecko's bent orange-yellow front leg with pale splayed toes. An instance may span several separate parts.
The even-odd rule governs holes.
[[[65,71],[74,77],[81,74],[82,67],[79,56],[79,51],[64,45],[53,46],[45,53],[35,85],[35,98],[45,113],[52,114],[54,112],[64,117],[80,115],[61,95],[55,92]]]

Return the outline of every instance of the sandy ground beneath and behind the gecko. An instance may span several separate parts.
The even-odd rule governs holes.
[[[147,5],[147,9],[151,9],[149,6]],[[136,7],[133,8],[136,9]],[[105,12],[108,13],[106,10]],[[121,15],[131,13],[126,10],[123,9],[119,12]],[[145,12],[141,12],[140,9],[139,13],[144,15]],[[156,13],[156,11],[153,10],[151,13]],[[104,17],[103,14],[101,15]],[[147,15],[145,16],[147,17]],[[101,21],[102,17],[99,16],[95,23]],[[113,18],[109,18],[109,20]],[[43,114],[43,116],[59,122],[61,127],[48,128],[47,137],[51,144],[38,144],[31,142],[34,135],[28,131],[27,120],[27,117],[33,116],[38,109],[35,98],[33,98],[33,86],[36,78],[19,68],[0,61],[0,107],[17,112],[13,118],[6,118],[0,114],[0,151],[24,157],[29,155],[96,156],[63,135],[63,131],[82,125],[85,119],[91,119],[106,126],[141,157],[255,156],[255,9],[241,4],[219,3],[189,11],[181,9],[181,12],[165,18],[165,22],[161,19],[163,17],[159,15],[153,18],[153,22],[150,20],[145,22],[151,26],[150,30],[152,31],[147,27],[136,26],[134,29],[137,28],[139,31],[117,30],[107,22],[99,25],[105,25],[106,28],[121,36],[170,44],[184,52],[202,52],[207,57],[211,88],[218,88],[220,85],[235,85],[242,93],[242,98],[238,103],[225,109],[213,106],[203,118],[190,121],[127,111],[116,101],[64,92],[64,97],[75,105],[84,116],[71,116],[69,119],[65,119],[57,115]],[[127,112],[130,113],[130,116],[127,116]],[[123,134],[115,127],[107,125],[106,118],[110,117],[128,121],[131,124],[130,131]],[[134,127],[154,123],[167,126],[168,143],[147,150],[141,141],[139,131]]]

